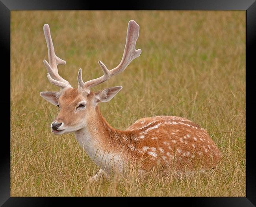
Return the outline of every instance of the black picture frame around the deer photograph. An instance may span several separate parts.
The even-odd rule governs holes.
[[[129,1],[128,4],[117,4],[113,2],[87,2],[87,1],[67,1],[67,0],[0,0],[0,46],[1,46],[1,74],[2,81],[0,81],[1,89],[9,84],[10,79],[7,79],[10,73],[10,11],[11,10],[102,10],[102,9],[126,9],[126,10],[244,10],[246,11],[246,109],[250,113],[246,116],[246,197],[241,198],[155,198],[155,199],[171,199],[179,205],[192,206],[232,206],[232,207],[246,207],[256,206],[256,164],[254,161],[254,136],[253,128],[255,117],[254,107],[256,105],[256,96],[254,96],[254,77],[252,71],[256,69],[254,62],[255,48],[256,48],[256,2],[255,0],[143,0],[143,1]],[[254,52],[253,52],[254,51]],[[6,68],[10,68],[9,72]],[[74,198],[10,198],[10,132],[7,130],[7,118],[11,117],[11,112],[8,113],[7,108],[10,108],[10,91],[2,90],[4,98],[0,100],[0,107],[2,110],[2,124],[1,127],[1,168],[0,168],[0,205],[2,206],[50,206],[57,205],[61,201],[65,204],[74,204]],[[252,93],[250,93],[252,92]],[[8,99],[9,97],[9,99]],[[8,101],[9,100],[9,101]],[[252,120],[252,121],[250,121]],[[10,122],[9,122],[9,129]],[[79,198],[88,199],[88,198]],[[97,201],[107,201],[109,198],[96,198]],[[126,199],[126,202],[119,203],[121,205],[134,204],[134,200],[140,204],[151,202],[152,198],[116,198]],[[143,200],[141,200],[143,199]],[[73,200],[73,201],[70,201]],[[160,201],[160,200],[159,200]],[[169,201],[170,202],[170,201]],[[95,203],[96,204],[96,203]],[[112,202],[113,204],[113,202]],[[78,204],[79,205],[79,204]],[[86,203],[85,203],[86,205]],[[167,204],[169,205],[169,204]],[[171,205],[171,203],[170,203]]]

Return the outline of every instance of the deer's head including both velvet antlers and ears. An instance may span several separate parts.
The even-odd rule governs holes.
[[[60,87],[60,91],[41,92],[40,95],[60,109],[58,116],[51,124],[52,132],[57,135],[71,133],[84,128],[87,122],[93,120],[99,102],[108,102],[122,89],[122,86],[117,86],[97,92],[90,90],[91,87],[99,85],[111,76],[124,71],[132,60],[139,57],[141,50],[135,49],[139,36],[139,25],[134,20],[130,20],[128,23],[124,54],[119,65],[108,70],[101,61],[98,61],[104,75],[87,82],[83,82],[82,69],[80,68],[78,71],[78,88],[76,89],[73,89],[68,81],[59,76],[58,65],[65,65],[66,62],[57,57],[54,52],[49,25],[45,24],[43,30],[49,59],[49,63],[46,60],[43,61],[48,72],[47,78],[52,84]]]

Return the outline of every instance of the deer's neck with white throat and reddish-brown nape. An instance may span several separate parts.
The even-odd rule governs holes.
[[[112,128],[102,117],[98,106],[96,113],[88,118],[90,120],[85,127],[76,131],[75,136],[80,146],[85,150],[89,157],[106,172],[110,172],[111,161],[115,168],[121,170],[122,158],[121,152],[113,148],[117,140],[120,145],[124,144],[122,140],[122,131]]]

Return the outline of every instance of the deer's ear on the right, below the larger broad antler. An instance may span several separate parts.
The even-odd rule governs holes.
[[[98,104],[98,102],[110,101],[121,89],[122,89],[122,86],[116,86],[116,87],[111,87],[111,88],[96,92],[95,104]]]

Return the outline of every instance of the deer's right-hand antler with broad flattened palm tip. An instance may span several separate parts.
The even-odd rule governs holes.
[[[111,76],[117,75],[124,71],[124,69],[132,62],[136,57],[139,57],[141,54],[141,49],[136,50],[135,44],[139,37],[139,25],[134,21],[130,20],[128,23],[127,36],[126,36],[126,44],[124,47],[124,54],[122,55],[122,60],[119,65],[112,70],[108,70],[108,68],[101,62],[98,61],[101,69],[104,72],[104,75],[100,78],[92,79],[83,83],[82,80],[82,69],[79,69],[78,72],[78,85],[84,89],[89,89],[95,85],[99,85],[100,83],[105,82]]]

